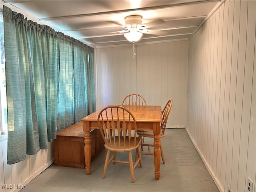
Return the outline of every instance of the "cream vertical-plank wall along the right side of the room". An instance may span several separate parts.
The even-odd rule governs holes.
[[[256,183],[256,1],[227,0],[189,40],[186,130],[221,191]]]

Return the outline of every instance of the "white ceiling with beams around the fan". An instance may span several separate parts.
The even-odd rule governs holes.
[[[166,32],[163,36],[143,34],[136,43],[188,39],[221,2],[221,0],[3,1],[6,6],[14,6],[21,10],[22,14],[26,12],[56,31],[93,47],[131,44],[124,37],[124,33],[119,33],[124,30],[124,18],[130,15],[142,16],[142,25],[150,30]]]

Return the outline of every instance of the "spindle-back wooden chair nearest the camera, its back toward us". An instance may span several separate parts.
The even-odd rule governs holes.
[[[132,182],[134,182],[134,168],[142,160],[140,154],[141,138],[137,138],[136,120],[131,112],[122,106],[107,106],[98,114],[100,133],[107,149],[106,160],[103,170],[105,178],[107,167],[110,162],[130,164]],[[132,131],[132,128],[134,131]],[[124,133],[124,134],[123,134]],[[132,160],[132,151],[136,150],[135,161]],[[113,152],[110,158],[110,151]],[[128,152],[129,161],[116,160],[116,152]]]

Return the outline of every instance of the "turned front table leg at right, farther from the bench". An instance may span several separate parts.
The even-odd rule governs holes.
[[[155,178],[158,180],[160,178],[160,135],[154,134],[154,164],[155,164]]]

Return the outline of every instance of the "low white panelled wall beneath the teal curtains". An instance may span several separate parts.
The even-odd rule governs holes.
[[[21,186],[54,163],[53,141],[48,142],[48,150],[40,150],[36,155],[27,155],[26,160],[7,164],[7,138],[0,141],[0,192],[18,192]]]

